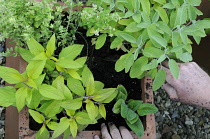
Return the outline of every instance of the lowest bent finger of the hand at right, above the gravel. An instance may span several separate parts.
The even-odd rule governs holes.
[[[179,99],[176,89],[174,89],[170,84],[168,84],[168,83],[163,84],[163,88],[166,90],[170,99],[172,99],[172,100],[178,100]]]

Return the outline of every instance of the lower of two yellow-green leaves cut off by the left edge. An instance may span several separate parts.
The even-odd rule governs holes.
[[[0,106],[8,107],[15,104],[15,88],[11,86],[0,87]]]

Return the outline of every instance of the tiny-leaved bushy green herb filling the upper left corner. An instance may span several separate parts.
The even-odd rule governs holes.
[[[59,46],[72,44],[77,30],[75,22],[79,17],[73,8],[78,5],[71,0],[65,0],[68,4],[63,6],[57,1],[49,1],[0,0],[0,40],[11,38],[18,45],[23,45],[30,38],[47,42],[56,33]]]

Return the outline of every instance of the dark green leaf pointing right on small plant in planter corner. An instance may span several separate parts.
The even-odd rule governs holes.
[[[137,112],[140,116],[153,114],[157,111],[158,111],[157,107],[155,107],[153,104],[149,104],[149,103],[141,104],[137,110]]]

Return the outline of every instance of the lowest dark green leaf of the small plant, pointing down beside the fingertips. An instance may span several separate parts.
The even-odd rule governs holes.
[[[144,127],[140,119],[131,124],[128,120],[125,120],[130,129],[140,138],[144,135]]]

